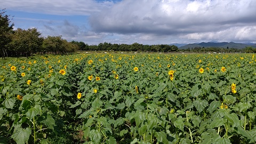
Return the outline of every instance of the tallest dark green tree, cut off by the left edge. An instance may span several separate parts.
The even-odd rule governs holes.
[[[11,42],[11,33],[14,24],[11,23],[10,15],[5,14],[5,9],[0,12],[0,49],[2,59],[5,59],[7,55],[8,44]],[[10,24],[11,23],[11,24]]]

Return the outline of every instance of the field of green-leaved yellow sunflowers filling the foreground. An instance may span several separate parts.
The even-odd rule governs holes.
[[[0,143],[255,143],[254,54],[0,61]]]

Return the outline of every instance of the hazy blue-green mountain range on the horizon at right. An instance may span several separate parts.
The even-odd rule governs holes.
[[[254,43],[250,43],[250,44],[243,44],[243,43],[234,43],[234,42],[218,42],[218,43],[215,43],[215,42],[207,42],[207,43],[194,43],[194,44],[187,44],[187,45],[184,45],[184,46],[178,46],[179,49],[188,49],[188,48],[194,48],[194,47],[223,47],[223,48],[235,48],[235,49],[244,49],[246,46],[253,46],[253,47],[256,47],[256,44]]]

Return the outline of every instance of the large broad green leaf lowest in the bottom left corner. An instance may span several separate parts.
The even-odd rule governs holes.
[[[17,144],[23,144],[28,142],[30,134],[31,129],[29,127],[27,127],[26,129],[19,127],[16,131],[13,132],[12,138],[15,142],[17,142]]]

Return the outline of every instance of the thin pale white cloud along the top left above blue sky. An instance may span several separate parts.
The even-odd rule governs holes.
[[[113,5],[112,1],[98,3],[93,0],[4,0],[1,6],[8,10],[53,14],[53,15],[90,15],[99,12],[105,7]]]

